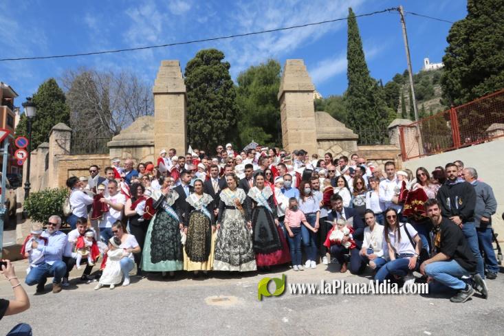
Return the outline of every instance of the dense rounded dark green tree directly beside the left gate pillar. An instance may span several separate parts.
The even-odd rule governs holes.
[[[193,147],[213,150],[236,139],[237,93],[223,59],[220,50],[203,49],[186,65],[187,137]]]

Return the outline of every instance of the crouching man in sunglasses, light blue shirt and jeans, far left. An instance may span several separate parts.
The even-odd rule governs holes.
[[[63,251],[67,245],[67,235],[59,231],[61,227],[60,216],[50,216],[47,228],[41,237],[47,238],[47,245],[39,246],[36,241],[32,243],[32,249],[38,249],[44,256],[44,262],[34,267],[26,276],[25,282],[28,286],[36,284],[36,293],[44,293],[47,277],[52,279],[52,292],[59,293],[63,286],[61,280],[67,271],[67,265],[63,262]]]

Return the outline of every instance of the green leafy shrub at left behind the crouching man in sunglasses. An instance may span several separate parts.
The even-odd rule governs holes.
[[[63,214],[63,203],[68,197],[67,188],[46,189],[30,193],[25,201],[24,209],[33,221],[47,224],[47,219],[53,214],[61,217],[62,223],[66,223]]]

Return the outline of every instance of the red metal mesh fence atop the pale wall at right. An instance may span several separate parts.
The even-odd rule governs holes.
[[[399,126],[406,161],[504,137],[504,89]]]

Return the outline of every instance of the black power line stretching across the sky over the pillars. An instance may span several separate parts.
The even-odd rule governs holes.
[[[384,10],[377,10],[375,12],[370,12],[366,14],[359,14],[355,15],[355,17],[363,17],[363,16],[372,16],[375,14],[381,14],[384,12],[394,12],[398,11],[399,8],[386,8]],[[447,20],[443,19],[437,19],[432,16],[426,16],[423,14],[417,14],[414,12],[406,12],[408,14],[412,15],[417,15],[417,16],[423,16],[428,19],[434,19],[437,21],[443,21],[443,22],[448,22],[452,23]],[[271,32],[281,32],[285,30],[293,30],[293,29],[298,29],[298,28],[304,28],[304,27],[310,27],[314,25],[323,25],[326,23],[333,23],[337,21],[344,21],[347,20],[347,17],[339,18],[339,19],[332,19],[332,20],[326,20],[326,21],[320,21],[320,22],[314,22],[314,23],[305,23],[303,25],[292,25],[290,27],[281,27],[281,28],[276,28],[276,29],[271,29],[271,30],[260,30],[257,32],[248,32],[248,33],[243,33],[243,34],[233,34],[233,35],[228,35],[228,36],[218,36],[218,37],[212,37],[212,38],[201,38],[199,40],[192,40],[192,41],[182,41],[182,42],[175,42],[175,43],[166,43],[162,45],[147,45],[145,47],[134,47],[134,48],[124,48],[124,49],[113,49],[113,50],[104,50],[101,52],[85,52],[85,53],[79,53],[79,54],[63,54],[63,55],[52,55],[52,56],[33,56],[33,57],[18,57],[18,58],[0,58],[0,62],[5,62],[8,60],[45,60],[45,59],[50,59],[50,58],[67,58],[67,57],[78,57],[78,56],[91,56],[91,55],[102,55],[102,54],[115,54],[115,53],[120,53],[120,52],[133,52],[136,50],[144,50],[144,49],[157,49],[157,48],[162,48],[162,47],[173,47],[175,45],[189,45],[189,44],[194,44],[194,43],[203,43],[203,42],[209,42],[209,41],[219,41],[219,40],[226,40],[229,38],[236,38],[236,37],[244,37],[244,36],[252,36],[252,35],[259,35],[259,34],[266,34],[266,33],[271,33]]]

